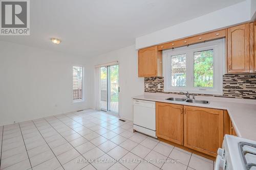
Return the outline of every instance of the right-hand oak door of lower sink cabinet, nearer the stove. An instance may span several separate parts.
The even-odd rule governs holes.
[[[184,106],[185,147],[216,157],[223,127],[223,110]]]

